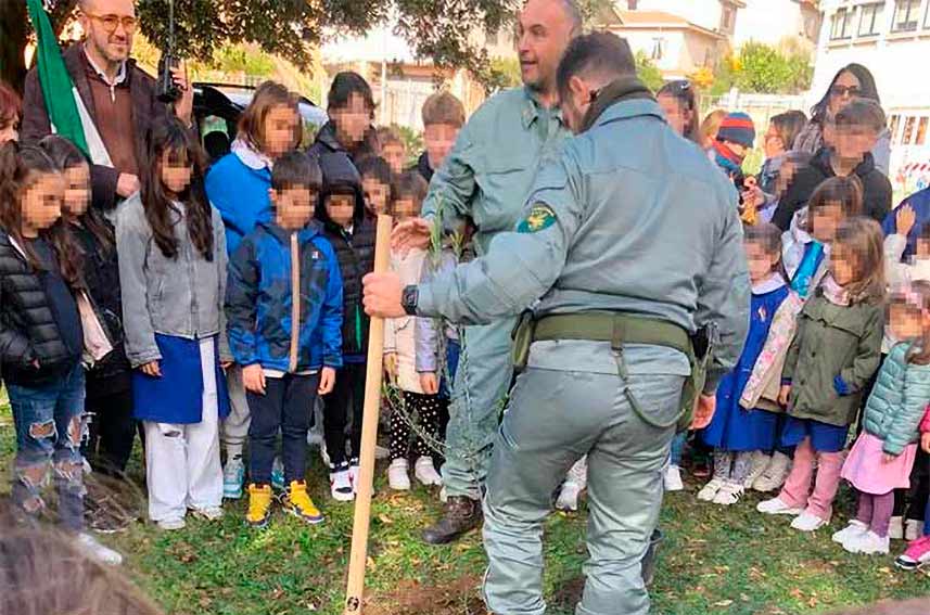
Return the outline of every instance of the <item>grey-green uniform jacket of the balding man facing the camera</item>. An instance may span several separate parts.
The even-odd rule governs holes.
[[[513,230],[539,163],[570,134],[560,111],[539,104],[527,88],[495,94],[469,118],[433,175],[423,217],[442,210],[448,228],[470,217],[477,252],[486,253],[495,234]]]

